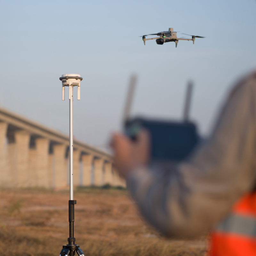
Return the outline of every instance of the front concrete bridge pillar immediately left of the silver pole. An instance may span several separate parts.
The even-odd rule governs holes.
[[[67,187],[67,146],[64,144],[53,145],[52,167],[53,167],[53,188]]]

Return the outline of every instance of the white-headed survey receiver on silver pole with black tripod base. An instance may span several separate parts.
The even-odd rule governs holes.
[[[68,244],[63,245],[60,256],[84,256],[84,252],[75,244],[74,221],[75,221],[75,204],[73,199],[73,86],[77,86],[77,100],[80,100],[80,82],[83,78],[78,74],[65,74],[60,77],[62,82],[62,100],[65,100],[65,86],[69,88],[69,201],[68,201],[68,221],[69,237]]]

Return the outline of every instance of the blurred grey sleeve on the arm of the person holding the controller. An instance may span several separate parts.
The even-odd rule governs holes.
[[[131,172],[127,187],[145,219],[172,238],[211,230],[256,183],[256,74],[230,93],[211,137],[185,162]]]

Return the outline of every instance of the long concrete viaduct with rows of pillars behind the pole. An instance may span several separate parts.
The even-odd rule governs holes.
[[[111,155],[74,139],[74,186],[125,187]],[[0,108],[0,187],[66,188],[69,136]]]

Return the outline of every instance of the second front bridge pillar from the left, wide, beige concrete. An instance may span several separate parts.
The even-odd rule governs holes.
[[[14,132],[16,150],[15,154],[15,170],[17,177],[17,187],[28,187],[29,171],[28,171],[28,156],[30,133],[27,131]]]

